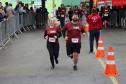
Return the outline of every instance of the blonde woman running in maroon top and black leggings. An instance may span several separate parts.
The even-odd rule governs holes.
[[[59,41],[58,38],[61,36],[61,31],[57,25],[57,21],[49,19],[49,26],[45,29],[44,38],[47,39],[47,49],[50,55],[51,69],[55,68],[55,63],[58,64],[59,56]],[[55,61],[55,63],[54,63]]]

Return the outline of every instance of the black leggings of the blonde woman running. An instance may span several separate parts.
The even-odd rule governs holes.
[[[59,56],[59,43],[47,42],[47,49],[50,55],[50,62],[54,66],[54,60],[56,61]]]

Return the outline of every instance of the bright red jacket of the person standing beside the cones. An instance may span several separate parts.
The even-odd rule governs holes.
[[[89,31],[100,30],[102,28],[101,17],[96,13],[92,13],[91,15],[89,15],[87,18],[87,22],[89,24]]]

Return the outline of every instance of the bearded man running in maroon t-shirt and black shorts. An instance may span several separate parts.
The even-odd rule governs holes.
[[[73,59],[73,70],[76,71],[81,50],[81,32],[85,33],[82,24],[79,22],[78,15],[72,16],[72,21],[65,24],[63,31],[65,34],[67,55]]]

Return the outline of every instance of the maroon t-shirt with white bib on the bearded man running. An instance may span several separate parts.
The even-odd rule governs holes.
[[[67,43],[81,43],[81,32],[84,32],[84,29],[80,23],[74,25],[72,22],[68,22],[64,31],[67,32]]]

